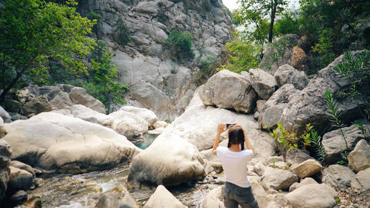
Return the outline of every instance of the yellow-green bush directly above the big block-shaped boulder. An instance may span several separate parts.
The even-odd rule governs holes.
[[[225,51],[230,53],[228,58],[229,63],[217,70],[228,69],[235,73],[240,73],[257,68],[258,64],[260,64],[258,46],[255,46],[252,42],[233,40],[226,43]]]

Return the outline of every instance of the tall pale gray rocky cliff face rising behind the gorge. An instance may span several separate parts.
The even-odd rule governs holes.
[[[147,107],[163,120],[183,113],[196,87],[206,80],[199,69],[201,59],[215,56],[215,62],[225,62],[222,49],[232,38],[233,25],[221,0],[81,0],[78,11],[101,15],[95,35],[115,54],[119,81],[131,87],[128,104]],[[131,32],[126,46],[114,41],[117,19]],[[192,33],[192,60],[176,59],[165,44],[173,28]]]

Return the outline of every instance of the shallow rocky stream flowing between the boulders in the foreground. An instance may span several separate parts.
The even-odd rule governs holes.
[[[154,141],[156,136],[144,135],[144,141],[136,146],[145,149]],[[28,199],[40,197],[42,207],[85,208],[94,207],[100,196],[107,191],[116,189],[121,184],[126,189],[128,164],[117,166],[106,171],[90,173],[58,174],[44,178],[44,184],[28,191]],[[222,175],[220,175],[222,177]],[[187,182],[167,189],[187,207],[202,207],[206,194],[215,187],[221,186],[205,179],[203,181]],[[130,195],[142,207],[149,200],[155,187],[128,189]]]

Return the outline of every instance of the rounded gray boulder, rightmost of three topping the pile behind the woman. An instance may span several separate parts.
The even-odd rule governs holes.
[[[304,71],[298,71],[288,64],[279,67],[274,73],[274,77],[278,87],[288,83],[294,85],[296,89],[303,89],[309,81]]]

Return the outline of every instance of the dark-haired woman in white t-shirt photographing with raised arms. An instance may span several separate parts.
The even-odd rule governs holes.
[[[251,182],[246,176],[246,164],[254,154],[253,146],[242,127],[237,124],[231,125],[228,130],[228,147],[219,146],[219,137],[226,130],[226,124],[219,123],[215,144],[213,144],[213,154],[221,160],[226,175],[226,185],[222,192],[224,205],[226,208],[237,208],[237,205],[242,208],[258,207],[252,193]],[[244,144],[246,150],[244,150]]]

